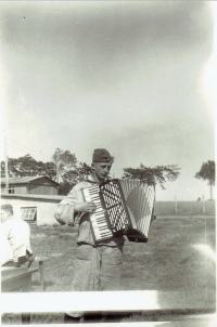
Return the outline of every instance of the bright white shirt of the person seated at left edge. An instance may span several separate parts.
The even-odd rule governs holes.
[[[25,221],[18,218],[11,218],[3,222],[1,226],[12,247],[14,262],[17,262],[20,257],[26,257],[26,251],[33,253],[30,228]]]

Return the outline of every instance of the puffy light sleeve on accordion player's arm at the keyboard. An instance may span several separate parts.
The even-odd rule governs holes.
[[[79,213],[75,214],[75,205],[78,204],[78,194],[76,188],[74,187],[67,197],[63,199],[55,210],[55,219],[61,225],[75,225],[79,220]]]

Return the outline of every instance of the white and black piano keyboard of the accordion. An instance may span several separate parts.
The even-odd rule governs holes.
[[[107,225],[107,220],[101,204],[99,192],[100,187],[98,185],[82,189],[85,200],[94,202],[97,206],[95,212],[90,214],[93,235],[97,241],[113,237],[113,233]]]

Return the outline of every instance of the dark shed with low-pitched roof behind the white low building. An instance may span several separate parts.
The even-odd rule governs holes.
[[[44,175],[9,178],[9,194],[58,195],[59,185]],[[1,179],[1,194],[5,194],[5,178]]]

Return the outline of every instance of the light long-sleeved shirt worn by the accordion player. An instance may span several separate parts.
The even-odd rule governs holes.
[[[90,225],[90,213],[75,212],[75,206],[85,201],[81,191],[95,184],[95,182],[100,183],[93,173],[88,176],[87,181],[75,185],[67,197],[59,204],[55,211],[55,219],[59,223],[68,225],[79,224],[77,243],[95,245]],[[116,246],[123,244],[124,240],[123,236],[115,236],[111,239],[100,241],[98,245]]]

